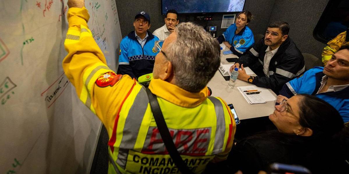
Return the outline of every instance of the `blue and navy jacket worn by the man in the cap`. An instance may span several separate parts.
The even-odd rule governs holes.
[[[153,72],[155,56],[153,51],[156,36],[148,32],[148,38],[143,48],[131,31],[120,43],[119,70],[121,74],[128,74],[131,78],[138,78]]]

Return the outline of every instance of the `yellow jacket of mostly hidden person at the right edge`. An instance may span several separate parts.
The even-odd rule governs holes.
[[[344,31],[337,35],[334,39],[327,42],[327,46],[322,50],[322,63],[324,63],[324,66],[326,65],[327,61],[331,59],[332,55],[336,53],[339,48],[343,45],[349,45],[349,36],[347,33],[349,32],[349,29],[347,31]]]

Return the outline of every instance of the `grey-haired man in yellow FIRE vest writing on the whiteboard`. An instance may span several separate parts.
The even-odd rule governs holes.
[[[180,173],[159,134],[146,90],[128,75],[114,73],[92,37],[84,0],[68,1],[63,60],[80,100],[109,134],[109,173]],[[154,79],[164,119],[182,159],[194,173],[227,158],[235,121],[227,104],[206,87],[220,64],[216,39],[193,23],[176,27],[162,47],[156,42]]]

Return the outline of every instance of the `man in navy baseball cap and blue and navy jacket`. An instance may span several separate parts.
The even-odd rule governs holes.
[[[157,50],[153,50],[159,40],[149,32],[150,16],[141,11],[134,17],[134,31],[131,31],[120,43],[119,70],[131,78],[138,78],[153,72]]]

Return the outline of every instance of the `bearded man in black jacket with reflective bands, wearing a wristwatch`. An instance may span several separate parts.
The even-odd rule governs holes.
[[[286,82],[305,71],[304,58],[295,43],[288,37],[289,30],[287,22],[270,23],[265,38],[255,43],[246,55],[241,56],[231,66],[230,71],[241,65],[242,70],[239,70],[238,79],[278,93]],[[243,65],[250,66],[258,61],[260,62],[258,66],[251,67],[258,76],[247,75]]]

